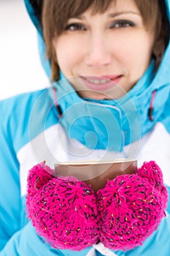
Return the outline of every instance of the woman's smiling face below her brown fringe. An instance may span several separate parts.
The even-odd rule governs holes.
[[[70,18],[53,40],[58,65],[81,97],[117,99],[147,69],[155,35],[134,0],[113,1],[104,14],[90,11]]]

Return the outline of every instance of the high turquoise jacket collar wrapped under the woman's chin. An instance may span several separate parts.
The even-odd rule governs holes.
[[[100,101],[82,99],[61,74],[61,80],[53,84],[62,113],[59,124],[69,138],[78,140],[90,149],[123,151],[123,146],[140,140],[150,131],[160,116],[155,104],[160,98],[158,89],[152,85],[154,69],[152,61],[136,86],[122,98]],[[155,91],[157,93],[152,102]],[[161,105],[165,100],[165,97],[162,98]],[[153,105],[154,118],[151,120],[148,111]]]

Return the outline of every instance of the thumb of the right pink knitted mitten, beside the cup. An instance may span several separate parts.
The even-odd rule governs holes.
[[[147,178],[156,189],[163,188],[163,174],[155,161],[144,162],[142,167],[137,170],[137,174],[142,178]]]

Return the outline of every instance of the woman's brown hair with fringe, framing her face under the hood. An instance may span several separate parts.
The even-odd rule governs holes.
[[[47,48],[47,58],[50,59],[52,80],[58,80],[58,63],[53,48],[53,39],[66,27],[69,18],[76,17],[92,7],[92,14],[103,13],[112,1],[117,0],[43,0],[42,4],[42,29]],[[163,52],[169,42],[169,20],[166,15],[163,0],[134,0],[144,20],[147,30],[155,30],[155,45],[153,57],[158,69]]]

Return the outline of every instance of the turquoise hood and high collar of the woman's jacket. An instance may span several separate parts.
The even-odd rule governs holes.
[[[38,32],[42,65],[50,77],[50,63],[44,58],[45,43],[37,18],[36,1],[34,6],[31,4],[33,1],[24,1]],[[170,17],[170,0],[165,2],[168,17]],[[167,103],[170,97],[169,56],[170,44],[166,48],[156,74],[153,75],[155,64],[151,61],[147,71],[134,88],[118,100],[82,99],[61,74],[61,80],[55,83],[53,88],[57,91],[57,102],[63,113],[60,123],[69,138],[77,139],[88,148],[121,152],[124,146],[140,140],[157,121],[166,120],[164,125],[170,132],[169,104]]]

